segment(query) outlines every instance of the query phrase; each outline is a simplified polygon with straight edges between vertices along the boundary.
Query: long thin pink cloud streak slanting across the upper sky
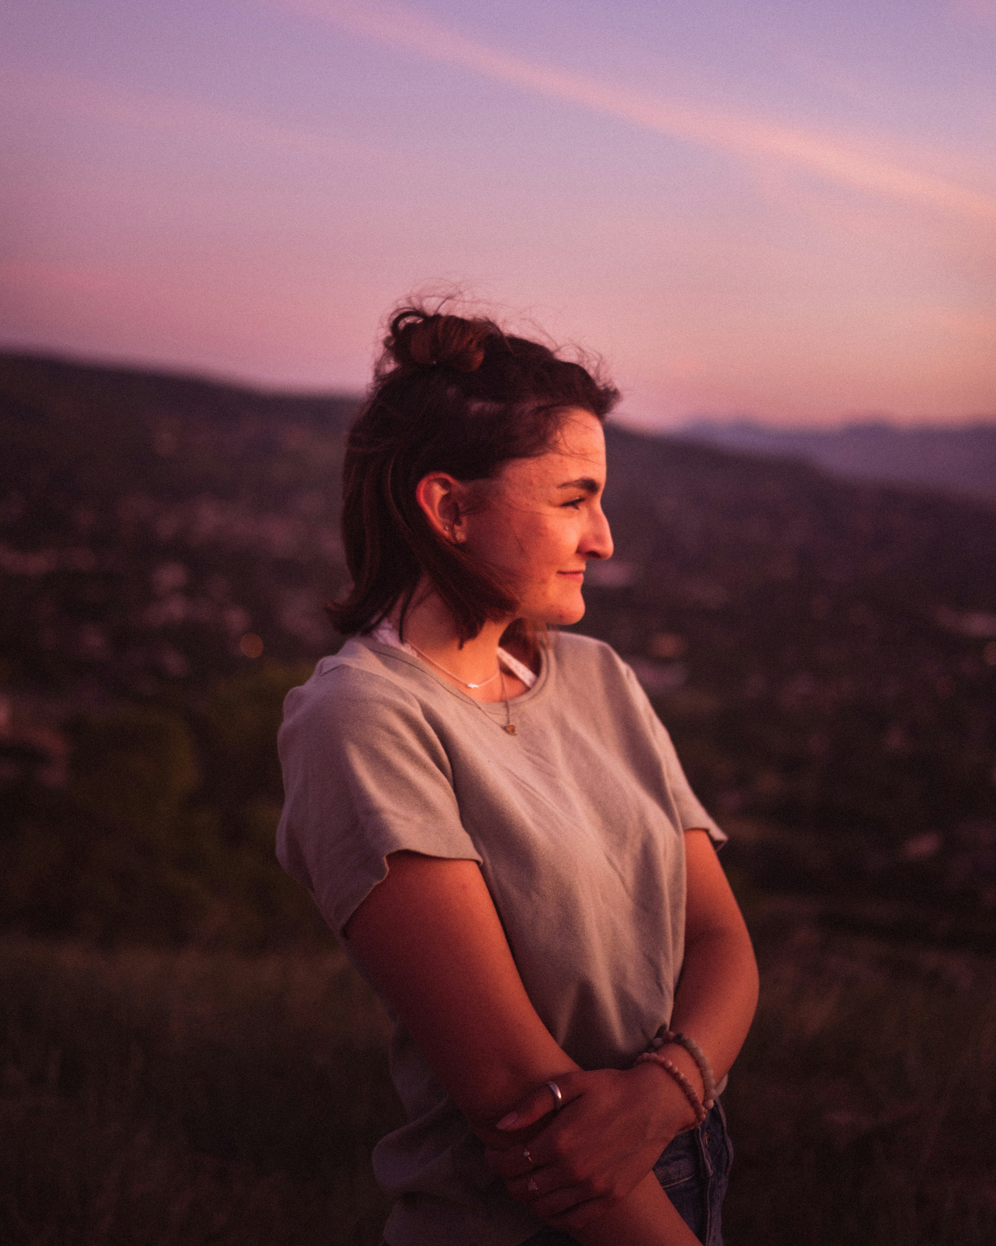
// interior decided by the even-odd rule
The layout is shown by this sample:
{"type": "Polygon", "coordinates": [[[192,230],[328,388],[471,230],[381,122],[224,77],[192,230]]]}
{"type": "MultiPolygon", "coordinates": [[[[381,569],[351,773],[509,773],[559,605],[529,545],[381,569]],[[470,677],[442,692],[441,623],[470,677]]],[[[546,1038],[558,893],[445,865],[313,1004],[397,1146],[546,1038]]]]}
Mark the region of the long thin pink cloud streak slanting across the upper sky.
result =
{"type": "Polygon", "coordinates": [[[996,224],[996,198],[930,169],[909,167],[798,126],[661,98],[512,56],[430,22],[410,9],[355,0],[264,0],[369,39],[458,66],[494,82],[575,103],[642,130],[720,148],[747,159],[776,159],[829,182],[996,224]]]}

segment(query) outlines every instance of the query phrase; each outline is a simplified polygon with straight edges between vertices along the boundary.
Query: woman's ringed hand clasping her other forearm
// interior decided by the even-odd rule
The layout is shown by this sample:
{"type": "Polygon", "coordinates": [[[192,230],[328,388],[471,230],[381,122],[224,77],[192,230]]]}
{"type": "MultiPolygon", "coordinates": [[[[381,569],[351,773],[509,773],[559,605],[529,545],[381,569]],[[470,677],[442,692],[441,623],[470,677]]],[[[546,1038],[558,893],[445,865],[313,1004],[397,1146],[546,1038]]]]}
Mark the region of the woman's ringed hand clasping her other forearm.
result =
{"type": "Polygon", "coordinates": [[[484,1158],[509,1194],[540,1219],[583,1229],[624,1199],[695,1116],[679,1087],[652,1064],[565,1073],[557,1084],[564,1108],[552,1113],[545,1085],[530,1091],[499,1121],[508,1149],[486,1150],[484,1158]]]}

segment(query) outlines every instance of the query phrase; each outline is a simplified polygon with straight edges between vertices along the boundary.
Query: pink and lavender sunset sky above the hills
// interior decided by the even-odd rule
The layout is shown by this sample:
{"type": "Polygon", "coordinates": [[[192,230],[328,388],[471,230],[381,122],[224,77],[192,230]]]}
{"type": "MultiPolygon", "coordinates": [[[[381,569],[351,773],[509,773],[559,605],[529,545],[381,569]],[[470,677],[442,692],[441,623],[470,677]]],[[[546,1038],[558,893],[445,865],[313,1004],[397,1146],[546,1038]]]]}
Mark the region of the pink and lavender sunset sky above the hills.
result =
{"type": "Polygon", "coordinates": [[[459,289],[647,425],[996,416],[996,0],[0,0],[0,343],[360,390],[459,289]]]}

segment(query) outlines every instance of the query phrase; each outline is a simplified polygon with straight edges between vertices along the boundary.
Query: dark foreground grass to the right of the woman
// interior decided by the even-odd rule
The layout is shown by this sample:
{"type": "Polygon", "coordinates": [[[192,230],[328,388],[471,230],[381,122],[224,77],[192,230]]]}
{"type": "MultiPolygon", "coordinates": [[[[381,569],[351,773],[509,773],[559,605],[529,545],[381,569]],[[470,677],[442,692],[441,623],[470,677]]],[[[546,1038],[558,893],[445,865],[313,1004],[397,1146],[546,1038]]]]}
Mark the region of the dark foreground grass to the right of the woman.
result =
{"type": "Polygon", "coordinates": [[[726,1094],[732,1246],[996,1240],[996,961],[758,931],[762,998],[726,1094]]]}

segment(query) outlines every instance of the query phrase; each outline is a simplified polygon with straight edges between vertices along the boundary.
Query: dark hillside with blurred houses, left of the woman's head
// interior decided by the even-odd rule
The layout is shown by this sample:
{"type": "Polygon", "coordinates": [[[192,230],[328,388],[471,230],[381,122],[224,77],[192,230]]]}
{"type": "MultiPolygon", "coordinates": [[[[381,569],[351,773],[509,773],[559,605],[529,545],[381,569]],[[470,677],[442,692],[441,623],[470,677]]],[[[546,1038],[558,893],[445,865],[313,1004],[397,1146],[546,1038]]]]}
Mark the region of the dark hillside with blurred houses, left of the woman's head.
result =
{"type": "Polygon", "coordinates": [[[355,397],[0,355],[0,637],[10,678],[115,694],[204,680],[239,638],[330,643],[355,397]]]}

